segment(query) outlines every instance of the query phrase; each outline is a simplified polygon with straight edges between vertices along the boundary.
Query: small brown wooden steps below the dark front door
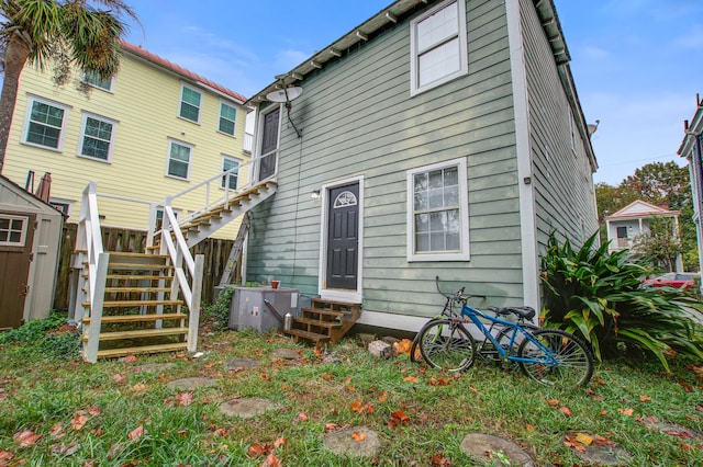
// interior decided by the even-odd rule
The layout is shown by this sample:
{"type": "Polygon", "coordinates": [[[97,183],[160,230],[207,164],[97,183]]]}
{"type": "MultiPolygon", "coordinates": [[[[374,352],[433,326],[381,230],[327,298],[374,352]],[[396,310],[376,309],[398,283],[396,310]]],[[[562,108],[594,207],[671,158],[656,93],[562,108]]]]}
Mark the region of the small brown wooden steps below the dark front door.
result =
{"type": "Polygon", "coordinates": [[[295,338],[295,342],[314,343],[315,346],[334,344],[352,329],[361,316],[361,305],[313,298],[310,308],[302,308],[293,318],[291,329],[282,332],[295,338]]]}

